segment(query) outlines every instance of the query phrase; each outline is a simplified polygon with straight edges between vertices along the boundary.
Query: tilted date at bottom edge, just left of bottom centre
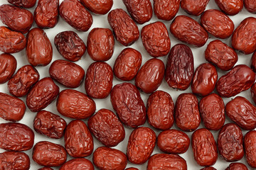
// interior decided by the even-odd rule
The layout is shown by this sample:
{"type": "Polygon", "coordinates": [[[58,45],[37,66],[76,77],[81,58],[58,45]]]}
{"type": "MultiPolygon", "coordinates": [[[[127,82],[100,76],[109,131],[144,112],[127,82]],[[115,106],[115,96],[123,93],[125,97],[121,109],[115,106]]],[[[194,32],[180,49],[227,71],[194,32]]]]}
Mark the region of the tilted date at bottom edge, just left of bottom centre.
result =
{"type": "Polygon", "coordinates": [[[101,170],[123,170],[127,166],[127,156],[109,147],[98,147],[93,153],[92,161],[101,170]]]}

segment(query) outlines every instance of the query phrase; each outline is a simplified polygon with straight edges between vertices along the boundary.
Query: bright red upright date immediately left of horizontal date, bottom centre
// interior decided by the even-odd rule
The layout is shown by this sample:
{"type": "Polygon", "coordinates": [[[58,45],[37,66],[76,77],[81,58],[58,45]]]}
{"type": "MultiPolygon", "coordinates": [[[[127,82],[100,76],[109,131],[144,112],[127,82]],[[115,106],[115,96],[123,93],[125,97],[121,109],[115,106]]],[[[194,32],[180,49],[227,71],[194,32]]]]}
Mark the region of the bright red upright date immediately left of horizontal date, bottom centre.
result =
{"type": "Polygon", "coordinates": [[[132,131],[127,145],[127,157],[132,164],[144,164],[156,145],[156,133],[140,127],[132,131]]]}

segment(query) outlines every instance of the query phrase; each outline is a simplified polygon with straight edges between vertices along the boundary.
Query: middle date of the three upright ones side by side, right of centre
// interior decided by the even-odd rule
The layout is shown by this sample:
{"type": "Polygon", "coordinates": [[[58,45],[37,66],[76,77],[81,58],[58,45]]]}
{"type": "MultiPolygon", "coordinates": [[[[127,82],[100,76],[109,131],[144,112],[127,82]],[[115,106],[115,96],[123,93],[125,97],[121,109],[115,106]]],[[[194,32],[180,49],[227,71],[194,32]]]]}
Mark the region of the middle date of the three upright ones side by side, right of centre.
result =
{"type": "Polygon", "coordinates": [[[178,128],[191,132],[201,123],[198,99],[193,94],[181,94],[175,103],[175,121],[178,128]]]}

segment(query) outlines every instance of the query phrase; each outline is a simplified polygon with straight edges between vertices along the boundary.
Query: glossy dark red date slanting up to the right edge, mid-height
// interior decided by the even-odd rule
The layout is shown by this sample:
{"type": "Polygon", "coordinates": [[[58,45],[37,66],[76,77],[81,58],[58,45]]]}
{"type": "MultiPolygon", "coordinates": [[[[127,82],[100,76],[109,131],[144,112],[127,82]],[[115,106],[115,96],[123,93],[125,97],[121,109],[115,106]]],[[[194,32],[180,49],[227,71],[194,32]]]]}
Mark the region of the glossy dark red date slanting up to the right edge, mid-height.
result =
{"type": "Polygon", "coordinates": [[[228,98],[250,89],[254,82],[255,72],[247,65],[240,64],[218,79],[216,90],[221,97],[228,98]]]}

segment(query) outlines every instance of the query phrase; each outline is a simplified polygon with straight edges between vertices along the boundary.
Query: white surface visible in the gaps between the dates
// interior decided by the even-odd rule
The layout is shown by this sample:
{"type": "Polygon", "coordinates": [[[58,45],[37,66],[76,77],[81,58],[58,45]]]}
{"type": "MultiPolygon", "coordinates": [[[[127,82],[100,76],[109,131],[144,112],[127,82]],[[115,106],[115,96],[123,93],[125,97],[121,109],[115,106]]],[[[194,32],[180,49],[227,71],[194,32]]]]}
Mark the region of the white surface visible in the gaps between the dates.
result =
{"type": "MultiPolygon", "coordinates": [[[[60,0],[61,2],[62,0],[60,0]]],[[[151,0],[151,3],[153,5],[153,1],[151,0]]],[[[0,1],[0,5],[2,4],[9,4],[7,2],[7,0],[1,0],[0,1]]],[[[31,11],[33,13],[34,9],[36,8],[36,6],[34,6],[33,8],[29,8],[28,10],[31,11]]],[[[124,4],[122,3],[121,0],[114,0],[114,5],[112,6],[112,9],[114,8],[123,8],[125,11],[127,11],[127,9],[125,8],[124,4]]],[[[206,7],[206,9],[210,9],[210,8],[215,8],[218,9],[218,6],[215,4],[214,0],[210,0],[208,6],[206,7]]],[[[183,9],[179,9],[177,16],[178,15],[186,15],[186,16],[190,16],[187,13],[185,13],[183,11],[183,9]]],[[[235,23],[235,28],[239,25],[239,23],[244,19],[247,18],[248,16],[255,16],[255,14],[249,13],[246,11],[245,8],[242,9],[242,11],[240,11],[240,13],[238,13],[235,16],[230,16],[230,18],[233,20],[233,22],[235,23]]],[[[92,27],[90,28],[90,30],[92,30],[92,28],[110,28],[109,23],[107,22],[107,14],[106,15],[95,15],[94,13],[92,13],[92,17],[93,17],[93,24],[92,27]]],[[[200,16],[190,16],[191,18],[195,19],[196,21],[199,21],[200,16]]],[[[142,29],[143,26],[149,24],[149,23],[154,23],[155,21],[159,21],[156,16],[154,16],[151,18],[151,21],[144,23],[143,25],[139,25],[139,30],[142,29]]],[[[171,24],[171,21],[162,21],[165,23],[168,31],[169,31],[169,27],[171,24]]],[[[4,26],[3,23],[0,22],[0,26],[4,26]]],[[[33,23],[33,28],[37,27],[36,23],[33,23]]],[[[111,29],[111,28],[110,28],[111,29]]],[[[48,35],[48,38],[50,39],[50,42],[53,45],[53,60],[64,60],[64,58],[59,54],[58,50],[56,50],[55,45],[54,45],[54,37],[55,35],[57,35],[58,33],[64,31],[64,30],[73,30],[75,31],[75,33],[78,33],[78,35],[80,36],[80,38],[85,42],[87,41],[87,35],[88,33],[90,33],[90,30],[88,30],[87,32],[79,32],[78,30],[75,30],[74,28],[72,28],[71,26],[68,25],[68,23],[65,23],[65,21],[63,21],[62,18],[59,18],[58,24],[57,26],[55,26],[54,28],[50,28],[50,29],[46,29],[46,34],[48,35]]],[[[182,43],[178,40],[176,40],[176,38],[174,38],[173,35],[171,35],[170,31],[169,31],[169,37],[171,38],[171,47],[173,47],[174,45],[176,45],[177,43],[182,43]]],[[[188,45],[189,47],[191,47],[191,50],[193,51],[193,57],[194,57],[194,63],[195,63],[195,69],[196,67],[198,67],[199,64],[206,62],[205,58],[204,58],[204,50],[206,50],[206,46],[208,45],[208,43],[212,40],[215,40],[215,38],[210,35],[208,41],[206,42],[206,45],[204,45],[203,47],[192,47],[190,45],[188,45]]],[[[223,42],[227,43],[228,45],[231,45],[231,38],[222,40],[223,42]]],[[[135,42],[133,45],[131,45],[130,47],[133,47],[136,50],[139,50],[139,52],[142,53],[142,64],[144,64],[144,62],[146,62],[147,60],[151,59],[152,57],[150,57],[146,50],[144,49],[143,45],[142,45],[142,40],[141,38],[139,38],[139,40],[137,40],[137,42],[135,42]]],[[[114,61],[117,58],[117,56],[119,55],[119,53],[124,49],[125,47],[123,45],[121,45],[119,42],[117,42],[117,40],[115,40],[115,47],[114,47],[114,54],[112,55],[112,58],[107,61],[108,64],[110,64],[111,67],[113,67],[114,65],[114,61]]],[[[248,66],[250,66],[250,58],[252,55],[243,55],[241,53],[238,53],[238,63],[237,64],[247,64],[248,66]]],[[[18,52],[16,54],[14,54],[14,57],[16,57],[16,60],[18,62],[18,66],[16,71],[22,67],[25,64],[29,64],[28,60],[26,59],[26,52],[25,50],[22,50],[21,52],[18,52]]],[[[164,63],[166,64],[166,57],[159,57],[159,59],[163,60],[164,63]]],[[[52,63],[51,62],[51,63],[52,63]]],[[[76,64],[80,64],[80,66],[85,69],[85,72],[87,70],[87,67],[89,67],[89,65],[94,62],[89,55],[87,55],[87,53],[85,53],[85,55],[82,57],[81,60],[79,60],[78,62],[75,62],[76,64]]],[[[50,64],[51,64],[50,63],[50,64]]],[[[36,67],[36,69],[38,69],[38,72],[40,73],[40,78],[42,79],[43,77],[49,77],[49,73],[48,73],[48,69],[50,67],[50,64],[48,64],[46,67],[36,67]]],[[[218,76],[222,76],[223,74],[225,74],[225,72],[221,72],[220,69],[218,69],[218,76]]],[[[113,86],[115,84],[120,84],[122,83],[122,81],[117,80],[116,78],[114,78],[114,82],[113,82],[113,86]]],[[[132,84],[134,84],[134,81],[131,81],[132,84]]],[[[58,84],[58,83],[56,83],[58,84]]],[[[66,89],[64,86],[58,84],[58,86],[60,87],[60,91],[62,91],[63,89],[66,89]]],[[[84,81],[82,82],[82,85],[79,86],[76,90],[78,91],[82,91],[83,93],[85,93],[85,88],[84,88],[84,81]]],[[[186,93],[186,92],[191,92],[191,87],[189,87],[186,91],[176,91],[175,89],[171,89],[168,84],[166,84],[166,81],[163,81],[161,86],[159,87],[159,90],[164,90],[167,91],[169,94],[171,94],[171,97],[173,98],[174,102],[176,101],[176,98],[178,97],[179,94],[182,93],[186,93]]],[[[7,83],[6,84],[0,84],[0,91],[4,92],[6,94],[9,94],[9,91],[7,89],[7,83]]],[[[146,104],[146,100],[149,96],[149,94],[142,94],[142,99],[144,100],[144,103],[146,104]]],[[[252,97],[250,95],[250,90],[244,91],[241,94],[238,94],[238,96],[245,96],[249,101],[252,101],[252,97]]],[[[26,97],[21,98],[24,102],[26,101],[26,97]]],[[[200,98],[198,98],[198,100],[200,101],[200,98]]],[[[231,98],[224,98],[225,103],[227,103],[228,101],[230,101],[231,98]]],[[[95,99],[96,102],[96,107],[97,107],[97,111],[100,110],[100,108],[107,108],[113,111],[112,105],[110,103],[110,96],[108,96],[105,99],[95,99]]],[[[53,103],[51,103],[45,110],[46,111],[51,111],[52,113],[58,114],[58,111],[55,107],[56,105],[56,100],[53,101],[53,103]]],[[[23,117],[23,119],[20,121],[20,123],[26,124],[28,125],[32,130],[33,130],[33,118],[36,115],[36,113],[33,113],[31,111],[28,110],[28,108],[26,109],[26,113],[23,117]]],[[[63,117],[61,115],[61,117],[63,117]]],[[[64,118],[67,123],[69,123],[71,121],[70,118],[64,118]]],[[[0,118],[0,123],[6,123],[6,120],[3,120],[0,118]]],[[[87,120],[85,120],[85,122],[87,123],[87,120]]],[[[227,118],[225,123],[230,123],[230,120],[227,118]]],[[[145,123],[143,126],[148,126],[148,123],[145,123]]],[[[203,123],[201,123],[199,128],[203,128],[203,123]]],[[[152,127],[150,127],[152,128],[152,127]]],[[[172,128],[177,129],[176,125],[174,125],[172,128]]],[[[152,128],[154,129],[154,128],[152,128]]],[[[119,143],[119,145],[117,145],[117,147],[114,147],[116,149],[121,150],[122,152],[126,153],[126,148],[127,148],[127,140],[129,138],[130,133],[132,132],[133,129],[131,128],[127,128],[125,127],[126,130],[126,137],[124,139],[123,142],[119,143]]],[[[156,135],[159,134],[159,130],[155,130],[156,135]]],[[[215,140],[217,140],[218,137],[218,131],[211,131],[215,137],[215,140]]],[[[247,131],[242,130],[243,135],[245,135],[245,133],[247,131]]],[[[189,137],[191,137],[193,132],[186,132],[188,134],[189,137]]],[[[50,139],[48,137],[45,137],[43,135],[39,135],[38,133],[35,132],[35,144],[36,142],[42,141],[42,140],[46,140],[46,141],[50,141],[50,142],[54,142],[60,145],[64,146],[64,139],[61,138],[60,140],[54,140],[54,139],[50,139]]],[[[95,149],[97,149],[97,147],[102,146],[102,144],[100,142],[98,142],[95,138],[94,138],[94,145],[95,145],[95,149]]],[[[3,149],[0,149],[0,152],[4,152],[3,149]]],[[[153,154],[157,154],[157,153],[161,153],[161,151],[158,149],[158,147],[156,146],[154,149],[153,154]]],[[[32,149],[26,151],[26,154],[28,154],[29,157],[32,157],[32,149]]],[[[186,159],[187,165],[188,165],[188,169],[189,170],[193,170],[193,169],[201,169],[201,166],[198,166],[198,164],[196,164],[195,160],[193,159],[193,152],[191,149],[191,145],[188,149],[188,151],[185,154],[181,154],[181,157],[183,157],[184,159],[186,159]]],[[[86,157],[87,159],[90,159],[92,161],[92,155],[90,155],[89,157],[86,157]]],[[[72,159],[70,156],[68,156],[68,160],[72,159]]],[[[245,161],[245,157],[243,157],[242,160],[240,160],[240,162],[246,164],[246,166],[248,167],[248,169],[251,169],[248,164],[245,161]]],[[[142,164],[142,165],[135,165],[135,164],[130,164],[128,162],[127,167],[137,167],[139,169],[146,169],[146,164],[142,164]]],[[[221,169],[225,169],[228,166],[228,162],[225,162],[223,159],[221,159],[220,157],[218,157],[218,161],[215,163],[214,167],[215,169],[221,170],[221,169]]],[[[36,162],[33,162],[33,159],[31,159],[31,169],[39,169],[41,168],[41,166],[39,166],[38,164],[36,164],[36,162]]],[[[58,169],[58,168],[53,168],[53,169],[58,169]]],[[[95,168],[97,169],[97,168],[95,168]]]]}

